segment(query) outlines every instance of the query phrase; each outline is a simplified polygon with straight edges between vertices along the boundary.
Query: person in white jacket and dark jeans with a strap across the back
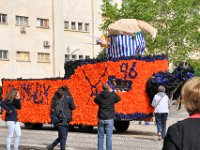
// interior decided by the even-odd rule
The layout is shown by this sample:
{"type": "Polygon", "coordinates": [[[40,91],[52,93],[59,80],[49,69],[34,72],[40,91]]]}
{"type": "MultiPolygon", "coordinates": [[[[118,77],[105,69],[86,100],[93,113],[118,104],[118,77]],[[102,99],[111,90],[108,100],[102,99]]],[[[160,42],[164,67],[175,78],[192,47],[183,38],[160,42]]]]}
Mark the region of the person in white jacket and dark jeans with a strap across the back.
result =
{"type": "Polygon", "coordinates": [[[165,93],[164,86],[158,87],[158,93],[154,96],[151,105],[155,107],[158,140],[163,140],[166,135],[166,122],[169,113],[169,97],[165,93]]]}

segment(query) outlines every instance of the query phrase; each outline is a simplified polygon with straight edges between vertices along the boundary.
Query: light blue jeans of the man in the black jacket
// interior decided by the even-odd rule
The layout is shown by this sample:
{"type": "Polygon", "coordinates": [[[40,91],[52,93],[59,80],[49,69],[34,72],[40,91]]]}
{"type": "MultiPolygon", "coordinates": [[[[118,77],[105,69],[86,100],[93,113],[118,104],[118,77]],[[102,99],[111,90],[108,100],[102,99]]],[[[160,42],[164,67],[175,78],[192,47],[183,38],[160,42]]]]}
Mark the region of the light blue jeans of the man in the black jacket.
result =
{"type": "Polygon", "coordinates": [[[114,120],[99,120],[98,122],[98,150],[103,150],[104,131],[106,132],[106,150],[112,150],[112,134],[114,120]]]}

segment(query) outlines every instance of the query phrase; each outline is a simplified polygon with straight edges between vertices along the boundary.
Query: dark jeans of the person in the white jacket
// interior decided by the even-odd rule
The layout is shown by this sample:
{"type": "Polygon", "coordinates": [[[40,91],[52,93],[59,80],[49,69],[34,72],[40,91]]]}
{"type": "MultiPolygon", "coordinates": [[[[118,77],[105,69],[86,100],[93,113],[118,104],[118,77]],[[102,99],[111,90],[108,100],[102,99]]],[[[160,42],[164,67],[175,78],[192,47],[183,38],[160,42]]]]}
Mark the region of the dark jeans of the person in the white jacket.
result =
{"type": "Polygon", "coordinates": [[[164,139],[166,135],[167,116],[168,116],[168,113],[155,113],[157,132],[161,133],[162,139],[164,139]]]}

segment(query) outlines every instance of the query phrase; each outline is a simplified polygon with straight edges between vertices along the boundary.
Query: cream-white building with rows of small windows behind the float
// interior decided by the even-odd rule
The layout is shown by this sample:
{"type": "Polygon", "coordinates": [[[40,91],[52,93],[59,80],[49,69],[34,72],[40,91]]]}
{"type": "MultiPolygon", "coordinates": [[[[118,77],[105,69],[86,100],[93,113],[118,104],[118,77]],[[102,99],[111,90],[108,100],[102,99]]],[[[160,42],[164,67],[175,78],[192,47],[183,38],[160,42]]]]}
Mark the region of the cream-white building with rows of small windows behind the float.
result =
{"type": "Polygon", "coordinates": [[[0,79],[63,77],[66,60],[95,58],[101,4],[0,0],[0,79]]]}

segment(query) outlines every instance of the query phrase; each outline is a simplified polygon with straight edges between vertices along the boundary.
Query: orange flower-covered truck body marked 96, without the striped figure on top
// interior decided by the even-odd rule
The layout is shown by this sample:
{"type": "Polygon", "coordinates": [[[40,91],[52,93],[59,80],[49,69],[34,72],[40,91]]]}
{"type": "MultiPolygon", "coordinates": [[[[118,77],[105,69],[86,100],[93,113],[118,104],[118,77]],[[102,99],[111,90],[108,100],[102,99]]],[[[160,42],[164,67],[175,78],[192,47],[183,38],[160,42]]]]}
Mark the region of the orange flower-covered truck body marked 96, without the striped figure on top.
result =
{"type": "MultiPolygon", "coordinates": [[[[126,131],[131,120],[151,119],[153,108],[146,92],[147,80],[166,70],[165,55],[69,61],[65,63],[64,78],[3,79],[2,97],[5,98],[12,87],[18,88],[22,103],[19,121],[26,128],[41,128],[51,123],[50,106],[55,91],[66,86],[77,106],[70,124],[91,130],[98,120],[98,107],[93,100],[102,90],[102,84],[115,78],[116,93],[121,97],[115,105],[115,128],[126,131]]],[[[5,119],[5,112],[2,118],[5,119]]]]}

